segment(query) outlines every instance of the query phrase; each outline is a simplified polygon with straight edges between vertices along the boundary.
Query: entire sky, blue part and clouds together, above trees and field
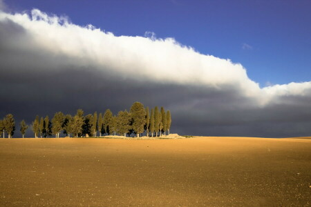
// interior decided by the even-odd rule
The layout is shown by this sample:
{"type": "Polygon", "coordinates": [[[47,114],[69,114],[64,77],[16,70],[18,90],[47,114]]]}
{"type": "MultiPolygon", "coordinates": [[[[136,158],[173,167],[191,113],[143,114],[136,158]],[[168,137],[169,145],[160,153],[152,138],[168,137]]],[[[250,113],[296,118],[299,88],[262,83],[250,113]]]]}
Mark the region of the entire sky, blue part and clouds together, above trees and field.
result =
{"type": "Polygon", "coordinates": [[[311,134],[311,1],[2,1],[0,116],[172,112],[182,135],[311,134]]]}

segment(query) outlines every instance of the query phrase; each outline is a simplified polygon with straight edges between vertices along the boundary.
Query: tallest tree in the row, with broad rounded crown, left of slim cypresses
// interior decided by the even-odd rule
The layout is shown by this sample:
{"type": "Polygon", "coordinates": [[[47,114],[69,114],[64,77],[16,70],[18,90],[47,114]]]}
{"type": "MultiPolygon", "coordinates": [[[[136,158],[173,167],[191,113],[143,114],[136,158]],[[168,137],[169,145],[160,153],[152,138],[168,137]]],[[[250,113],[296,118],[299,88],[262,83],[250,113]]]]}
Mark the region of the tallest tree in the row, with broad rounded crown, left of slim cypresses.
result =
{"type": "Polygon", "coordinates": [[[144,124],[146,124],[144,105],[140,102],[135,102],[131,106],[130,112],[133,119],[133,130],[137,134],[137,137],[140,137],[140,133],[144,132],[144,124]]]}

